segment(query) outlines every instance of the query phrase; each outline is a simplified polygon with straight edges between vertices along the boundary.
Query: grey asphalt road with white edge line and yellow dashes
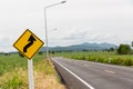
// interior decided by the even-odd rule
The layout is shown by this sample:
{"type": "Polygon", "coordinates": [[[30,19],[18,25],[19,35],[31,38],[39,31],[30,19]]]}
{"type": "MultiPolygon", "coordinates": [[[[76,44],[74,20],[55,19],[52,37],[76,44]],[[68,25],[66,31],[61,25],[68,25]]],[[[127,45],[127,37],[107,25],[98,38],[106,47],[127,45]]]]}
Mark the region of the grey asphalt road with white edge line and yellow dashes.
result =
{"type": "Polygon", "coordinates": [[[133,68],[51,58],[69,89],[133,89],[133,68]]]}

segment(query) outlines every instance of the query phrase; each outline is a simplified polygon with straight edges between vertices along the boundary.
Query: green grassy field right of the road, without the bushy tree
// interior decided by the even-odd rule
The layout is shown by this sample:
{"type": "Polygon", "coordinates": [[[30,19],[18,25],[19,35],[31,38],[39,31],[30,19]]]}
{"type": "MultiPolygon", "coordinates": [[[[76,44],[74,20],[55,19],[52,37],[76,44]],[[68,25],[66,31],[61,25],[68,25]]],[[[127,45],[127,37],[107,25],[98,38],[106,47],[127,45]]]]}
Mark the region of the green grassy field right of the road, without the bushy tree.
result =
{"type": "Polygon", "coordinates": [[[116,52],[76,51],[76,52],[57,52],[55,56],[111,65],[133,66],[133,55],[116,55],[116,52]]]}

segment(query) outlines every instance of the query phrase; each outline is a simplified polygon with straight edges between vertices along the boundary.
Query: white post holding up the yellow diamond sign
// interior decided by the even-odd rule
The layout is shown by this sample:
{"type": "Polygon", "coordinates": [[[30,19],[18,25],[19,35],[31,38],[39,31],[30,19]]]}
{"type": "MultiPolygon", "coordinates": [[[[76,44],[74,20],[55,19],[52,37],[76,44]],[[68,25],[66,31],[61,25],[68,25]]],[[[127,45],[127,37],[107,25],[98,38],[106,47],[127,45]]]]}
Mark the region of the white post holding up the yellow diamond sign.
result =
{"type": "Polygon", "coordinates": [[[32,59],[28,60],[28,73],[29,73],[29,89],[34,89],[32,59]]]}

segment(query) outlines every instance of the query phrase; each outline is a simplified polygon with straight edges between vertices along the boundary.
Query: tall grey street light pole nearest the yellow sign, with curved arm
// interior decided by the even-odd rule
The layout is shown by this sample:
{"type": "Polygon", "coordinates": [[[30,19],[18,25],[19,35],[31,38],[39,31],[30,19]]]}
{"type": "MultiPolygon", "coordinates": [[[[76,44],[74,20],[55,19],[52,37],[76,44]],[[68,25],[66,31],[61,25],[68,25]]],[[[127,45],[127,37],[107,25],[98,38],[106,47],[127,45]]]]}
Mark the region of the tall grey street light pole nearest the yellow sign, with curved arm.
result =
{"type": "Polygon", "coordinates": [[[54,7],[54,6],[58,6],[58,4],[62,4],[62,3],[65,3],[66,1],[61,1],[59,3],[54,3],[54,4],[50,4],[48,7],[44,8],[44,26],[45,26],[45,42],[47,42],[47,59],[49,60],[49,43],[48,43],[48,27],[47,27],[47,9],[50,8],[50,7],[54,7]]]}

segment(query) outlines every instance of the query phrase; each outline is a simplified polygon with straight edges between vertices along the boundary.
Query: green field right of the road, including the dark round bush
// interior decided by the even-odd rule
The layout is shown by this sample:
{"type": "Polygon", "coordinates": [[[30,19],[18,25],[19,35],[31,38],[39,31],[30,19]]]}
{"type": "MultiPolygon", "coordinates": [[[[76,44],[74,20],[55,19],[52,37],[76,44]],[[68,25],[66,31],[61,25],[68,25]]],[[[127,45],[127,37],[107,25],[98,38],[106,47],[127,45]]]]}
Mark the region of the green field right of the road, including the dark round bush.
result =
{"type": "Polygon", "coordinates": [[[93,62],[103,62],[120,66],[133,66],[133,49],[130,47],[130,44],[120,44],[117,48],[110,48],[105,50],[95,51],[83,50],[65,52],[59,51],[51,52],[51,55],[93,62]]]}

